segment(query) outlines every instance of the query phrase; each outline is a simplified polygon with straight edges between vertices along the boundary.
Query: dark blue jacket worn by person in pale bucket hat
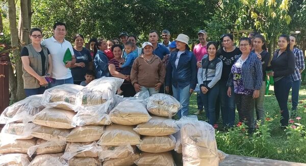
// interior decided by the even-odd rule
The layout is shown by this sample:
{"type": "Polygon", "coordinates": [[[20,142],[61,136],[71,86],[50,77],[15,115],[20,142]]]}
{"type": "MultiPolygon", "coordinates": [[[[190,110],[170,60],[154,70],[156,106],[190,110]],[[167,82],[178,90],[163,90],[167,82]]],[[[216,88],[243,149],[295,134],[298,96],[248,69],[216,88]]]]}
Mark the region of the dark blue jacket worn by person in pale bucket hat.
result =
{"type": "Polygon", "coordinates": [[[186,50],[181,54],[179,64],[175,67],[177,51],[170,54],[167,65],[166,86],[172,85],[177,88],[184,88],[190,85],[190,89],[195,89],[197,82],[196,58],[193,52],[186,50]]]}

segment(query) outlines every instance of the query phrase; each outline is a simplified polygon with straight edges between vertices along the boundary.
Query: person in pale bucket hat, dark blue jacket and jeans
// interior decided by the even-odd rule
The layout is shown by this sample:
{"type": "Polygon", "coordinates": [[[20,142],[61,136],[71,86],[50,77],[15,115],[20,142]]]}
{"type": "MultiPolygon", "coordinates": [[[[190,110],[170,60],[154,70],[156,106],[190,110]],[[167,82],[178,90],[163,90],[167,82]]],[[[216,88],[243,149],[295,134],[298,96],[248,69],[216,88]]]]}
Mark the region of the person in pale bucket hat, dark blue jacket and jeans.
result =
{"type": "Polygon", "coordinates": [[[175,39],[177,51],[172,52],[167,65],[166,91],[172,86],[173,96],[182,104],[177,115],[188,115],[189,98],[197,82],[196,58],[188,50],[189,37],[180,34],[175,39]]]}

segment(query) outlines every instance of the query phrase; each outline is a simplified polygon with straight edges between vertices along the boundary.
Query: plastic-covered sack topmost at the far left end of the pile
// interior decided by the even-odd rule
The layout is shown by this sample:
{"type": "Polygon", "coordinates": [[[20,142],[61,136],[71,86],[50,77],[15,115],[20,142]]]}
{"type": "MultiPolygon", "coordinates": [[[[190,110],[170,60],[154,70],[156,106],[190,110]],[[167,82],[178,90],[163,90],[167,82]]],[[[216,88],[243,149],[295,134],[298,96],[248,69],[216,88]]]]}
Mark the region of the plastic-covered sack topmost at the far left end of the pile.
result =
{"type": "Polygon", "coordinates": [[[33,95],[8,106],[0,116],[0,123],[31,121],[44,108],[40,103],[41,99],[42,95],[33,95]]]}

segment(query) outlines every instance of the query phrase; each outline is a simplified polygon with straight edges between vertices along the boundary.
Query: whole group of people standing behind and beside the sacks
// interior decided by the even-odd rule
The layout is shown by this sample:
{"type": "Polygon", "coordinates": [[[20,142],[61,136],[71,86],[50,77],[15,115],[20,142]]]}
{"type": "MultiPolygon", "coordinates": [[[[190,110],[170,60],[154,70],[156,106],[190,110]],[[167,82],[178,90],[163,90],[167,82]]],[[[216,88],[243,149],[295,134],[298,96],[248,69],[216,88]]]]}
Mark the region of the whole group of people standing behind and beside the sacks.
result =
{"type": "Polygon", "coordinates": [[[296,37],[281,35],[278,47],[270,62],[266,41],[260,34],[250,33],[235,46],[231,34],[221,36],[217,42],[208,42],[207,33],[197,33],[199,44],[191,51],[189,37],[179,34],[170,41],[170,32],[150,31],[148,41],[139,48],[137,37],[126,32],[119,39],[90,39],[90,49],[84,47],[84,37],[73,37],[74,46],[65,40],[66,25],[57,22],[54,36],[42,41],[42,32],[33,28],[32,43],[21,50],[24,90],[27,96],[42,94],[46,88],[61,84],[86,86],[95,78],[118,77],[124,82],[117,94],[134,96],[147,90],[150,95],[173,95],[182,108],[178,116],[188,115],[190,95],[197,90],[198,112],[205,110],[208,122],[214,125],[221,111],[224,126],[235,123],[237,107],[239,121],[245,122],[249,131],[257,120],[265,120],[263,107],[266,79],[274,78],[274,92],[281,108],[282,126],[287,126],[289,110],[287,101],[292,88],[292,115],[295,116],[300,73],[304,69],[301,50],[294,47],[296,37]],[[120,44],[122,43],[122,45],[120,44]],[[64,61],[66,54],[71,59],[64,61]],[[268,64],[271,63],[270,66],[268,64]],[[255,110],[255,111],[254,111],[255,110]]]}

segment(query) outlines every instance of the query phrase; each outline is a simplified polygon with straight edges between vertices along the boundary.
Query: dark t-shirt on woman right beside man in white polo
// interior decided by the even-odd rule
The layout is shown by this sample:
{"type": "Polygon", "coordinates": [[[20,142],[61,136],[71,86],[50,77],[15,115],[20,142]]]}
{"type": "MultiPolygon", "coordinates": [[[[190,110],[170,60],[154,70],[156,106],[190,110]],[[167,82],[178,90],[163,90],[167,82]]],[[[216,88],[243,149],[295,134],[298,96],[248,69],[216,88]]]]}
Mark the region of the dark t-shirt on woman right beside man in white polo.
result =
{"type": "Polygon", "coordinates": [[[71,74],[73,77],[73,81],[83,81],[85,80],[85,74],[89,67],[89,62],[92,61],[90,56],[90,51],[87,48],[84,48],[81,51],[78,51],[73,48],[74,57],[77,59],[75,63],[84,62],[85,67],[74,67],[71,68],[71,74]]]}

